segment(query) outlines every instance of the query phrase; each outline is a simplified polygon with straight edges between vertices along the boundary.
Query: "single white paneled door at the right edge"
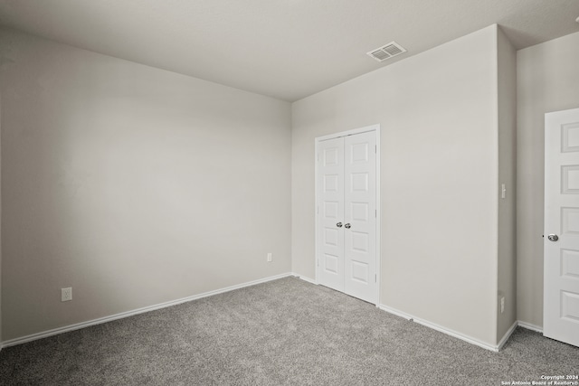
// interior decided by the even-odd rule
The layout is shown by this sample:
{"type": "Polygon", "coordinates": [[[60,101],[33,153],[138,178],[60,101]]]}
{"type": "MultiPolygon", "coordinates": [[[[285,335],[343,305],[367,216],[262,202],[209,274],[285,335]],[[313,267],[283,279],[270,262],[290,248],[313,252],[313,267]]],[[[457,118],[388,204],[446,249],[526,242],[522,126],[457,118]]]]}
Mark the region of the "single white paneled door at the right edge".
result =
{"type": "Polygon", "coordinates": [[[579,346],[579,108],[545,116],[543,334],[579,346]]]}

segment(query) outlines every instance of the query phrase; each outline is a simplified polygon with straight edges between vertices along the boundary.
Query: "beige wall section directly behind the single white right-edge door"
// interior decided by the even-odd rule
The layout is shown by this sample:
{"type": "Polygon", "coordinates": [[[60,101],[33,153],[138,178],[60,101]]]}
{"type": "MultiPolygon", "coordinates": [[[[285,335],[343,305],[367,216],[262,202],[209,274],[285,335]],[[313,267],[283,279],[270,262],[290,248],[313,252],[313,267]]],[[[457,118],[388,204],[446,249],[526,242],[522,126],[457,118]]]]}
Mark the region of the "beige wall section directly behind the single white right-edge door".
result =
{"type": "Polygon", "coordinates": [[[545,113],[579,108],[579,33],[517,52],[517,317],[543,326],[545,113]]]}

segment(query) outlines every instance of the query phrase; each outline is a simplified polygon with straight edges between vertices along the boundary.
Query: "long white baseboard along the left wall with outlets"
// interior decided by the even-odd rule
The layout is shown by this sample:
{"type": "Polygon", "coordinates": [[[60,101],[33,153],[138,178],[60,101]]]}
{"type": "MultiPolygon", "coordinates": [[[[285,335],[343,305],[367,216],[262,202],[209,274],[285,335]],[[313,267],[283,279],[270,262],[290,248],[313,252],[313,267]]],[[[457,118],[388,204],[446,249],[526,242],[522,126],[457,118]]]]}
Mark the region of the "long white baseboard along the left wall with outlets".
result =
{"type": "Polygon", "coordinates": [[[266,283],[266,282],[271,281],[271,280],[277,280],[279,278],[287,278],[289,276],[292,276],[292,273],[290,273],[290,272],[282,273],[280,275],[271,276],[269,278],[260,278],[257,280],[248,281],[248,282],[238,284],[235,286],[231,286],[231,287],[224,287],[224,288],[220,288],[220,289],[215,289],[214,291],[204,292],[203,294],[194,295],[192,297],[182,297],[180,299],[171,300],[171,301],[168,301],[165,303],[160,303],[160,304],[157,304],[154,306],[146,306],[146,307],[134,309],[134,310],[127,311],[127,312],[122,312],[122,313],[115,314],[115,315],[100,317],[98,319],[89,320],[87,322],[81,322],[81,323],[77,323],[74,325],[65,325],[63,327],[54,328],[52,330],[43,331],[41,333],[30,334],[30,335],[22,336],[20,338],[10,339],[10,340],[7,340],[5,342],[0,343],[0,350],[2,350],[2,348],[4,348],[4,347],[14,346],[17,344],[25,344],[27,342],[32,342],[32,341],[35,341],[38,339],[47,338],[47,337],[52,336],[52,335],[64,334],[64,333],[68,333],[68,332],[71,332],[74,330],[80,330],[81,328],[90,327],[91,325],[100,325],[103,323],[112,322],[113,320],[122,319],[122,318],[125,318],[128,316],[144,314],[146,312],[155,311],[157,309],[166,308],[166,307],[170,307],[170,306],[176,306],[176,305],[180,305],[182,303],[191,302],[193,300],[201,299],[203,297],[211,297],[214,295],[223,294],[224,292],[233,291],[235,289],[240,289],[243,287],[251,287],[251,286],[255,286],[257,284],[266,283]]]}

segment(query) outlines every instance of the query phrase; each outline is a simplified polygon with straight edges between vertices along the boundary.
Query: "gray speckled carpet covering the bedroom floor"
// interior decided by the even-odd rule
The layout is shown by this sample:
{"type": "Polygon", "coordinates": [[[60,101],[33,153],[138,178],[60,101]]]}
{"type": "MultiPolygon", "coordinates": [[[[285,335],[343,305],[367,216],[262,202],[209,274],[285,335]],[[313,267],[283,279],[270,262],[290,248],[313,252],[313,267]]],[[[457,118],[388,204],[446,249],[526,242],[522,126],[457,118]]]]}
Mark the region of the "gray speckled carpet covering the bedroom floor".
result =
{"type": "Polygon", "coordinates": [[[517,328],[500,353],[298,278],[0,352],[0,384],[500,385],[579,374],[579,348],[517,328]]]}

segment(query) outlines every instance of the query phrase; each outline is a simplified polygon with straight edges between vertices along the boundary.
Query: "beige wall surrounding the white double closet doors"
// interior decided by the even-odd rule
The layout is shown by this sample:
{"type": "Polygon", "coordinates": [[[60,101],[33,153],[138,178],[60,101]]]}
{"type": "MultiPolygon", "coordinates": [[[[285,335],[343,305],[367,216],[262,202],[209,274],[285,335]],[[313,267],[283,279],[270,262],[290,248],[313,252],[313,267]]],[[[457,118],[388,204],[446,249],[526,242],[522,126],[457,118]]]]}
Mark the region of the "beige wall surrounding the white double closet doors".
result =
{"type": "Polygon", "coordinates": [[[315,276],[314,138],[380,124],[380,302],[497,343],[497,26],[292,106],[292,263],[315,276]]]}

